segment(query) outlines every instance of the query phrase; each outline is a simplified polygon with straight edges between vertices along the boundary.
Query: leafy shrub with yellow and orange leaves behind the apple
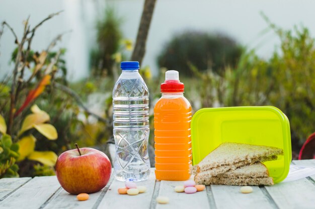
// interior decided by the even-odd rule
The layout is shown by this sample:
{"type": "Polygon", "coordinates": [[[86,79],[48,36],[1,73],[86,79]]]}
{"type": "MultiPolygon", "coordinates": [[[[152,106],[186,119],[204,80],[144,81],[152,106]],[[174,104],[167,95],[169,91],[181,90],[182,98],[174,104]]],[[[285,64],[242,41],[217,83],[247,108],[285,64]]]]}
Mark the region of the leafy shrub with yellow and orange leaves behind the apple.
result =
{"type": "MultiPolygon", "coordinates": [[[[69,87],[65,49],[53,50],[63,34],[42,51],[31,46],[37,28],[58,14],[34,28],[24,21],[22,37],[11,30],[17,47],[12,53],[13,72],[0,81],[0,178],[53,174],[58,154],[71,149],[74,142],[86,144],[87,135],[78,133],[84,132],[86,123],[78,116],[92,113],[69,87]]],[[[6,22],[3,26],[11,28],[6,22]]]]}

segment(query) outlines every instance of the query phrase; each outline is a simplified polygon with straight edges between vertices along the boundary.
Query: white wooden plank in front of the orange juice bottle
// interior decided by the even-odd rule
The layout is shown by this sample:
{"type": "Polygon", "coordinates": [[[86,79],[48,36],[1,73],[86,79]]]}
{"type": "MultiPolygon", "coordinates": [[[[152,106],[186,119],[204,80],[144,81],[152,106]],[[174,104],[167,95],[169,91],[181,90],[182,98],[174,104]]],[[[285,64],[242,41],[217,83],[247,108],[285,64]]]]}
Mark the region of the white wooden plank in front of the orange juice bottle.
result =
{"type": "Polygon", "coordinates": [[[161,181],[159,196],[170,198],[168,204],[156,204],[156,208],[210,208],[206,190],[193,194],[175,192],[175,186],[184,185],[184,181],[161,181]]]}

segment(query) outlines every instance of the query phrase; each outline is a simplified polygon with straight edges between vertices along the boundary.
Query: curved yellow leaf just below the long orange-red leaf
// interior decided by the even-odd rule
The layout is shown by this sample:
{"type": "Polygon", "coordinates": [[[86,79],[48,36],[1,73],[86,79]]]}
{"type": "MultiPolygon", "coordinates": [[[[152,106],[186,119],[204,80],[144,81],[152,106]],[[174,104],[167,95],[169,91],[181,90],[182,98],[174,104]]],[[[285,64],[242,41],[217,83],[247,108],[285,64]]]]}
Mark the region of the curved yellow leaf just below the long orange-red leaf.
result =
{"type": "Polygon", "coordinates": [[[23,121],[19,135],[33,128],[34,125],[45,123],[46,121],[49,121],[49,119],[49,115],[44,111],[42,111],[41,113],[33,113],[28,115],[23,121]]]}

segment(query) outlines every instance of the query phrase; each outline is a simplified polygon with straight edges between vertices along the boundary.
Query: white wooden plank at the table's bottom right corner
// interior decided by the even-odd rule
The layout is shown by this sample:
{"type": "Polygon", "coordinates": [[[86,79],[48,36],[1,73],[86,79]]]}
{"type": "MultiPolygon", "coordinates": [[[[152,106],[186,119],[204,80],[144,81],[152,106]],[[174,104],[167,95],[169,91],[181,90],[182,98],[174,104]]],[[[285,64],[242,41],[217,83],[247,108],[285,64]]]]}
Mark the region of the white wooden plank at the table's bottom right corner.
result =
{"type": "Polygon", "coordinates": [[[265,186],[280,208],[312,208],[315,186],[306,178],[265,186]]]}

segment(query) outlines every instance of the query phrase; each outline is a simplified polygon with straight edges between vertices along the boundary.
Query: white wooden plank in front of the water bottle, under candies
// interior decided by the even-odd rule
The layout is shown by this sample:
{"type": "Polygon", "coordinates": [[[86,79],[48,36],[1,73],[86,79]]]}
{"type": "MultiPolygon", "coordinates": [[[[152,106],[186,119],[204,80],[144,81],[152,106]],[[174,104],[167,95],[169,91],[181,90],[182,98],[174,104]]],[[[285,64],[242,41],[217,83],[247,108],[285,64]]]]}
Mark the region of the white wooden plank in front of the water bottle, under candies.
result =
{"type": "Polygon", "coordinates": [[[154,183],[154,169],[151,169],[148,180],[136,183],[138,186],[146,186],[147,191],[136,196],[129,196],[127,194],[118,194],[117,189],[125,187],[125,183],[114,179],[98,208],[149,208],[154,190],[154,183]]]}

